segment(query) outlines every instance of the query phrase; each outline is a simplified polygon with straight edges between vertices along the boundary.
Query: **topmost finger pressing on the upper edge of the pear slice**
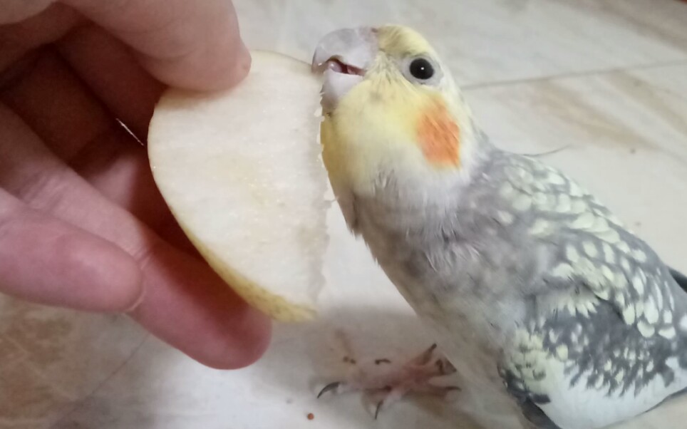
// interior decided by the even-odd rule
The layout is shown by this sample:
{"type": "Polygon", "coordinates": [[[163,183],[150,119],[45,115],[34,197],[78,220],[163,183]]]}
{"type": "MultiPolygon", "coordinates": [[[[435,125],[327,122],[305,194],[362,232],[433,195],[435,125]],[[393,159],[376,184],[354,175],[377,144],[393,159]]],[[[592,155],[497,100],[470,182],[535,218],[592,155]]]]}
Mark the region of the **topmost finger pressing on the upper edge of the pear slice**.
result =
{"type": "Polygon", "coordinates": [[[63,0],[133,48],[163,83],[230,88],[250,68],[230,0],[63,0]]]}

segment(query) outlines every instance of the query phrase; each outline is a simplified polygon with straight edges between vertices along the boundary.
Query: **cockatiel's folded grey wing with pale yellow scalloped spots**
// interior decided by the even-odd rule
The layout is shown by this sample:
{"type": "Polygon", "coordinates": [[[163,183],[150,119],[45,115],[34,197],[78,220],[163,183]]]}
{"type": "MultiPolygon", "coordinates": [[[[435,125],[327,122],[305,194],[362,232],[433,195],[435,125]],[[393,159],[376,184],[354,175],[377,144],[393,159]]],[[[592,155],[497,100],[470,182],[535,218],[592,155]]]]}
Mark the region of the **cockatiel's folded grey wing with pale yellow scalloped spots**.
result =
{"type": "Polygon", "coordinates": [[[601,428],[687,387],[687,278],[562,173],[544,171],[556,185],[532,196],[530,232],[552,264],[500,373],[542,428],[601,428]]]}

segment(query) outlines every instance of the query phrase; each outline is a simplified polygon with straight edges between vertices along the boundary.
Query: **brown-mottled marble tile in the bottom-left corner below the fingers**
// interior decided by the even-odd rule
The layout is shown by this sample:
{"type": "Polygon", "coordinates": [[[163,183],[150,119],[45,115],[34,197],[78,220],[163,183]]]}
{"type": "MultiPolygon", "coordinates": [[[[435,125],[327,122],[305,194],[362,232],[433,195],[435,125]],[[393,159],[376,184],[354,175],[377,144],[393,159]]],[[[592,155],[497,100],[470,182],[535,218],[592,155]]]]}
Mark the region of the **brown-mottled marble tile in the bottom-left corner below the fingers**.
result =
{"type": "Polygon", "coordinates": [[[0,428],[48,427],[117,371],[146,336],[123,316],[0,297],[0,428]]]}

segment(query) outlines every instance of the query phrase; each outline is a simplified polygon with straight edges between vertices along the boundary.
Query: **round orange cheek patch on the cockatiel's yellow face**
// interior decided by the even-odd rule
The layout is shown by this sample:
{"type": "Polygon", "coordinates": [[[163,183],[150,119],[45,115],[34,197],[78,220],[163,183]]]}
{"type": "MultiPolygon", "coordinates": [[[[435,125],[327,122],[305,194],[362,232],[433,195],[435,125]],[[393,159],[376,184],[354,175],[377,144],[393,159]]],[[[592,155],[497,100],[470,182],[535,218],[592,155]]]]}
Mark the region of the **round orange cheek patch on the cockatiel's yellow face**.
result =
{"type": "Polygon", "coordinates": [[[458,166],[460,130],[443,103],[435,103],[420,118],[418,140],[433,164],[458,166]]]}

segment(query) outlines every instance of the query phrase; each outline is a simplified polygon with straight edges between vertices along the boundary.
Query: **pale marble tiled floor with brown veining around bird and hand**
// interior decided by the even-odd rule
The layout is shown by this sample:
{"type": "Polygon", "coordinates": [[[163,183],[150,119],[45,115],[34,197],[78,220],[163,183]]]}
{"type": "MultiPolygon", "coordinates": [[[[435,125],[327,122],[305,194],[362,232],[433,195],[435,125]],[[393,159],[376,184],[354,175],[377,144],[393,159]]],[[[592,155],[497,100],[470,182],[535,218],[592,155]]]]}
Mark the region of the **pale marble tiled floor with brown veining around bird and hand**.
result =
{"type": "MultiPolygon", "coordinates": [[[[498,145],[522,153],[564,147],[547,160],[596,192],[666,262],[687,270],[686,3],[236,4],[252,48],[306,61],[331,29],[415,26],[450,58],[498,145]]],[[[324,320],[277,327],[267,356],[242,371],[203,368],[123,317],[0,299],[0,428],[470,428],[453,403],[411,400],[375,422],[357,397],[314,400],[314,383],[345,370],[343,355],[394,356],[428,343],[338,213],[331,219],[324,320]]],[[[621,428],[677,428],[686,420],[682,399],[621,428]]]]}

